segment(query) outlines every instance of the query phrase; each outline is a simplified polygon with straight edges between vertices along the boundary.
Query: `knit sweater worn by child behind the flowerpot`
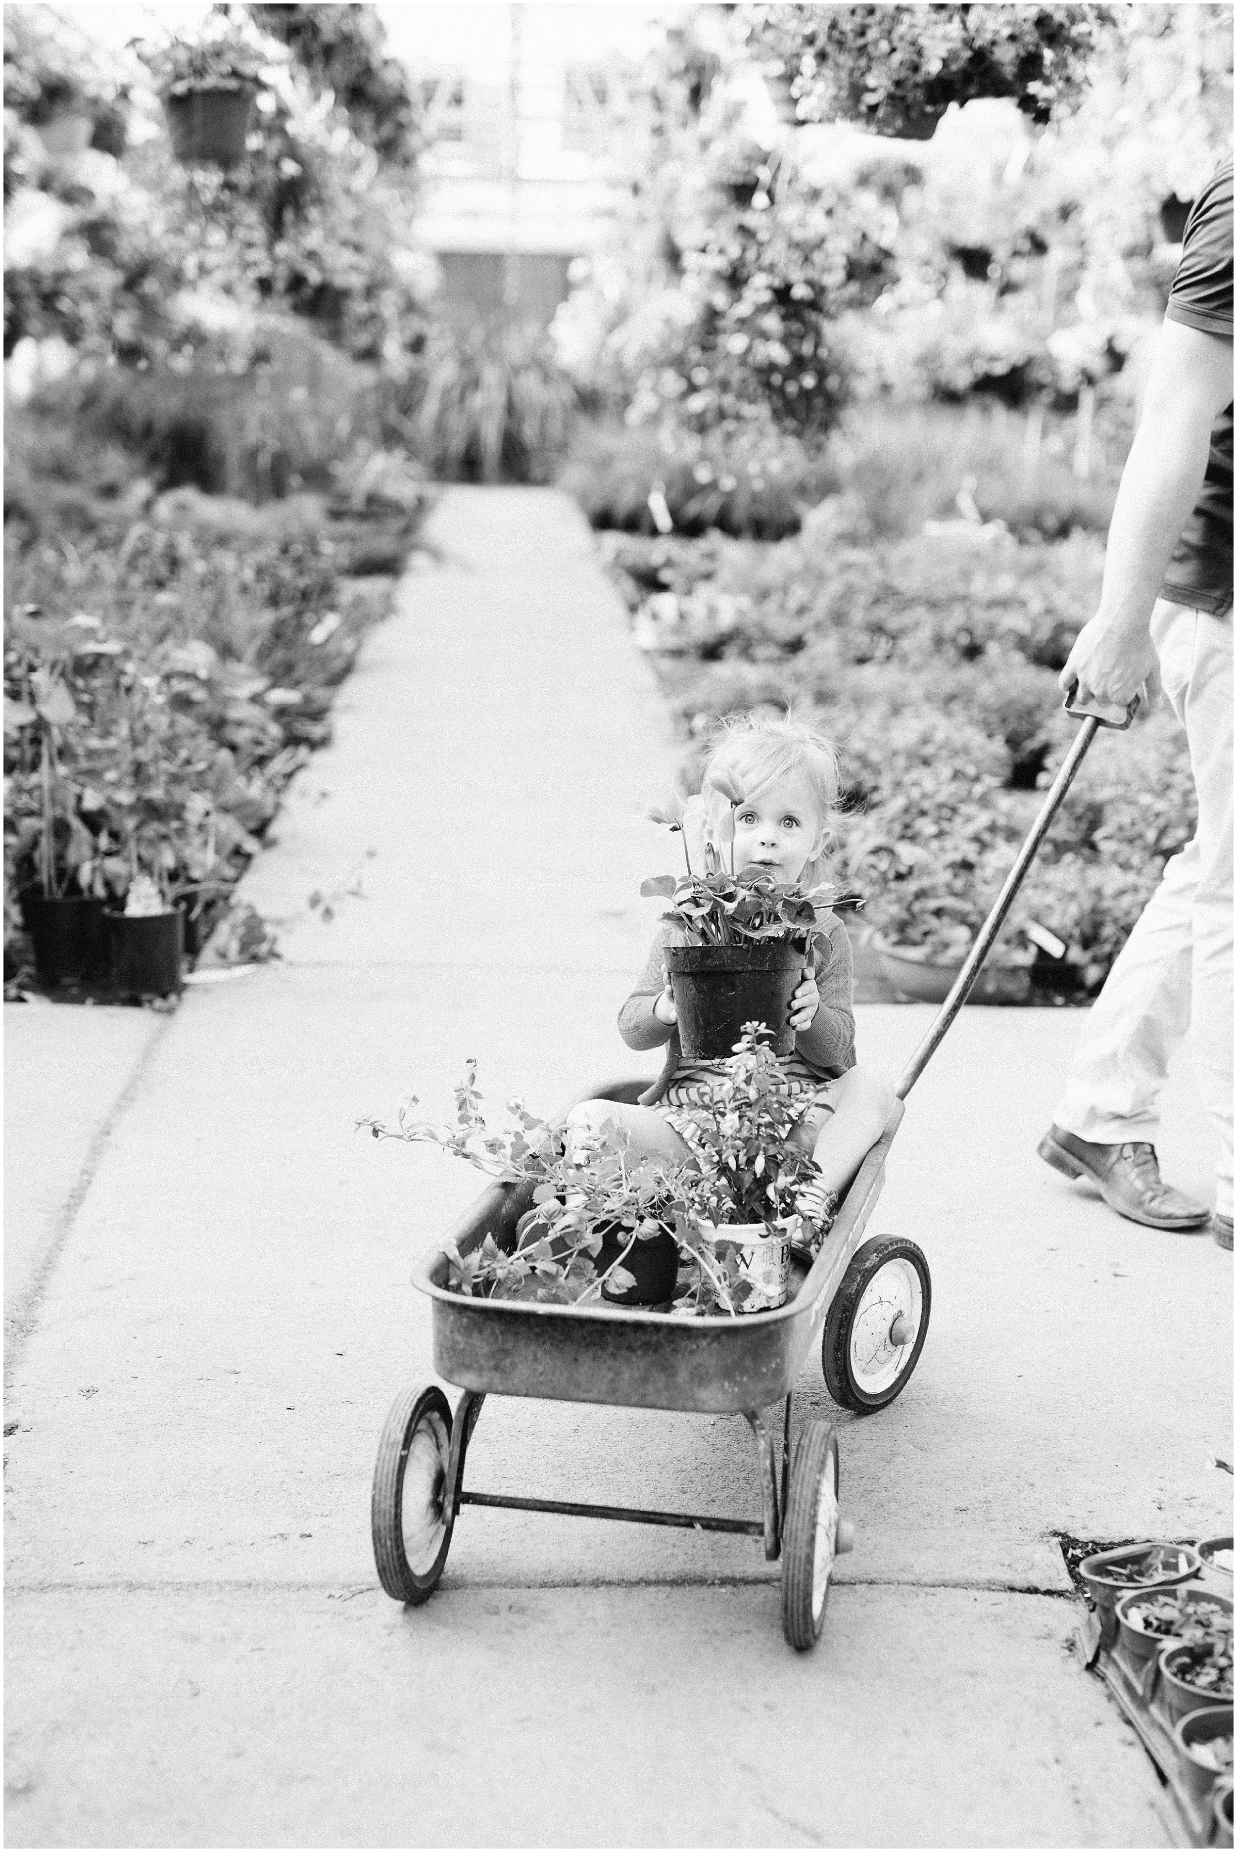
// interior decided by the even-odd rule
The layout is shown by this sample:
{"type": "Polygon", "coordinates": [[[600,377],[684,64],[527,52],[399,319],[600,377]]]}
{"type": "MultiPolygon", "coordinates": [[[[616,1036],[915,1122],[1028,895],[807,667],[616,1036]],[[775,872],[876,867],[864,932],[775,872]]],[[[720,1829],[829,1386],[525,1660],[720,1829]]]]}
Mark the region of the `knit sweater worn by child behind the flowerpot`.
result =
{"type": "MultiPolygon", "coordinates": [[[[820,915],[822,933],[813,939],[813,965],[820,1007],[811,1026],[798,1030],[794,1050],[820,1080],[837,1080],[856,1065],[854,961],[846,928],[835,913],[820,915]]],[[[635,989],[618,1011],[618,1033],[628,1048],[659,1048],[668,1043],[667,1063],[654,1085],[641,1095],[641,1106],[652,1106],[663,1096],[674,1078],[683,1050],[678,1028],[654,1015],[654,1004],[665,989],[661,972],[665,950],[687,945],[687,933],[672,920],[661,920],[648,961],[635,980],[635,989]]]]}

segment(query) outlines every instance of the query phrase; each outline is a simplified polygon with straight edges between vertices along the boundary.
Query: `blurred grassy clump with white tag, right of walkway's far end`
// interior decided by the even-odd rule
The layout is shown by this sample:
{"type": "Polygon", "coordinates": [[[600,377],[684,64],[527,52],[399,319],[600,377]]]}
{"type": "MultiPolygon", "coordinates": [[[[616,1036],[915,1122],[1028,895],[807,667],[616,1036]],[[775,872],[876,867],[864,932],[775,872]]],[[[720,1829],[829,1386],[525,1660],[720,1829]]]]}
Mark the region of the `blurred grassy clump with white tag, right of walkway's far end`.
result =
{"type": "Polygon", "coordinates": [[[746,426],[694,435],[678,428],[589,424],[559,476],[594,528],[656,533],[654,506],[676,533],[778,541],[837,485],[798,439],[746,426]]]}

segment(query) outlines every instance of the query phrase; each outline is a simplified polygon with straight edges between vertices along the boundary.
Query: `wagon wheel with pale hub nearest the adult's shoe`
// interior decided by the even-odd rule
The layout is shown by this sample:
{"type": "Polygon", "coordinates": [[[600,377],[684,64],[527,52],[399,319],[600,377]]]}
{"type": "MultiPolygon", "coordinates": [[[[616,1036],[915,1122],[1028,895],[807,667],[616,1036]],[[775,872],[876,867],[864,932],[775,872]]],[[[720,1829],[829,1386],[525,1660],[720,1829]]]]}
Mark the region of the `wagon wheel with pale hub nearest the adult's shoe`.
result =
{"type": "Polygon", "coordinates": [[[841,1408],[870,1415],[902,1395],[928,1337],[931,1274],[898,1235],[865,1241],[824,1320],[824,1382],[841,1408]]]}

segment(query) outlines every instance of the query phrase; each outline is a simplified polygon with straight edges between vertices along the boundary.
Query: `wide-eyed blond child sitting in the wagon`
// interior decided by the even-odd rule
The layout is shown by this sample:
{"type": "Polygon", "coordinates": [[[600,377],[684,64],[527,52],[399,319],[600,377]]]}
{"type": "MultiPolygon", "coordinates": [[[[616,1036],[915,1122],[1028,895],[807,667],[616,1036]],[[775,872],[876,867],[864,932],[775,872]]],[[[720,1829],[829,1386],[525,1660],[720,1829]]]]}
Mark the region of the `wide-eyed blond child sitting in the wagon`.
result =
{"type": "MultiPolygon", "coordinates": [[[[822,880],[830,817],[837,806],[837,754],[813,726],[743,719],[728,724],[707,757],[702,778],[704,839],[720,852],[720,824],[730,800],[715,778],[743,791],[735,807],[733,867],[757,863],[778,882],[815,887],[822,880]]],[[[730,846],[726,846],[730,861],[730,846]]],[[[833,1220],[837,1202],[885,1130],[893,1093],[856,1067],[852,959],[846,930],[835,913],[818,913],[811,970],[791,998],[794,1050],[780,1056],[785,1093],[802,1111],[794,1126],[798,1148],[811,1152],[817,1178],[804,1185],[798,1208],[820,1230],[833,1220]]],[[[685,945],[680,926],[657,926],[648,963],[618,1011],[618,1033],[628,1048],[668,1043],[661,1078],[639,1106],[585,1100],[572,1107],[569,1130],[593,1133],[620,1128],[648,1158],[689,1161],[700,1124],[700,1095],[720,1070],[717,1061],[683,1061],[674,993],[665,972],[665,948],[685,945]]]]}

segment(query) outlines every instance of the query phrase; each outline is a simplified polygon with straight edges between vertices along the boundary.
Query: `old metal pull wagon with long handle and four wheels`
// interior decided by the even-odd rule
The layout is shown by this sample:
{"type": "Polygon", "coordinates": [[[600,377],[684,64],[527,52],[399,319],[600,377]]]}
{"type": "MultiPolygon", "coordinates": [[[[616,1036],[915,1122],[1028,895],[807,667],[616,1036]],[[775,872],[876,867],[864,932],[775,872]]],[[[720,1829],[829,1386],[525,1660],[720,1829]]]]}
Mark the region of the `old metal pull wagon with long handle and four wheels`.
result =
{"type": "MultiPolygon", "coordinates": [[[[841,1408],[861,1415],[887,1408],[909,1382],[928,1335],[931,1276],[913,1241],[867,1235],[889,1146],[906,1096],[980,976],[1096,730],[1130,726],[1133,706],[1115,720],[1083,715],[1067,702],[1083,720],[1074,745],[967,963],[898,1082],[885,1132],[846,1191],[820,1254],[811,1267],[794,1263],[785,1306],[743,1317],[678,1319],[618,1306],[467,1298],[446,1289],[441,1246],[420,1261],[413,1283],[433,1300],[433,1367],[463,1395],[452,1411],[437,1385],[419,1385],[400,1395],[387,1415],[372,1493],[374,1559],[387,1595],[407,1604],[433,1595],[465,1506],[715,1530],[759,1537],[767,1559],[781,1559],[785,1637],[800,1650],[817,1643],[833,1561],[850,1550],[854,1533],[839,1511],[837,1437],[830,1424],[809,1420],[791,1450],[794,1383],[817,1343],[828,1391],[841,1408]],[[472,1491],[465,1483],[469,1441],[487,1395],[743,1415],[756,1439],[761,1519],[472,1491]]],[[[593,1096],[635,1100],[641,1087],[618,1082],[593,1096]]],[[[491,1185],[448,1239],[461,1254],[485,1235],[513,1245],[531,1187],[491,1185]]]]}

